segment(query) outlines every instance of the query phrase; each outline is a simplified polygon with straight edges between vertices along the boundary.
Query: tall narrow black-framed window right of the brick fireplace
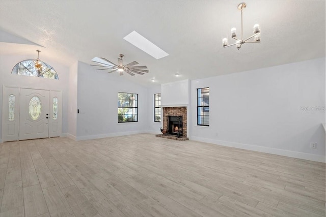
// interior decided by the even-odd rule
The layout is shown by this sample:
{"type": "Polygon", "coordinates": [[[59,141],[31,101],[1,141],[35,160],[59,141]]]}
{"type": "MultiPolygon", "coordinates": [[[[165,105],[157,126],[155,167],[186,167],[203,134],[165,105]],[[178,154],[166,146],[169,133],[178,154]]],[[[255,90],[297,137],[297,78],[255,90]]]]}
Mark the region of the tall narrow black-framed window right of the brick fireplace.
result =
{"type": "Polygon", "coordinates": [[[197,125],[209,126],[209,87],[197,89],[197,125]]]}

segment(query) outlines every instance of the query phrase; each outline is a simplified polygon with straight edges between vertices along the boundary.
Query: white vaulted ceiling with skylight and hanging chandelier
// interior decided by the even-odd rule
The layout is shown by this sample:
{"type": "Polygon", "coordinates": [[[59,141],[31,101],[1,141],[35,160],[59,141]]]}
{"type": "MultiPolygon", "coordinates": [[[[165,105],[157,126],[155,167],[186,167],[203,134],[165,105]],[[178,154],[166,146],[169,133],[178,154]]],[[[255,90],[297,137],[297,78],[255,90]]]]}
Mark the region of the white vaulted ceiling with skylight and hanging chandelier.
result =
{"type": "Polygon", "coordinates": [[[76,60],[92,64],[95,56],[116,63],[123,53],[124,63],[136,60],[150,72],[121,79],[145,86],[153,85],[152,78],[156,84],[198,79],[325,56],[325,1],[247,0],[243,37],[251,36],[259,23],[261,43],[244,44],[240,50],[223,48],[223,38],[233,43],[232,27],[240,33],[239,3],[1,0],[0,53],[36,58],[35,50],[40,49],[41,60],[66,66],[76,60]],[[155,59],[125,41],[133,30],[170,55],[155,59]]]}

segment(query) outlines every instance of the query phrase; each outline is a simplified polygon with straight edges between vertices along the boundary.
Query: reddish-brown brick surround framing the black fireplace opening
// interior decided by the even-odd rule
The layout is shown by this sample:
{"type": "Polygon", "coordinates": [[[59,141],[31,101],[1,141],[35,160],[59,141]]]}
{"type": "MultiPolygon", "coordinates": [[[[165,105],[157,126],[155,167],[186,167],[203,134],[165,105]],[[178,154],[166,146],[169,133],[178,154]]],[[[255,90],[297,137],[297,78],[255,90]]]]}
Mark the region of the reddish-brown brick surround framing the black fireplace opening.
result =
{"type": "Polygon", "coordinates": [[[168,116],[182,116],[182,137],[187,137],[187,107],[164,107],[163,129],[168,129],[168,116]]]}

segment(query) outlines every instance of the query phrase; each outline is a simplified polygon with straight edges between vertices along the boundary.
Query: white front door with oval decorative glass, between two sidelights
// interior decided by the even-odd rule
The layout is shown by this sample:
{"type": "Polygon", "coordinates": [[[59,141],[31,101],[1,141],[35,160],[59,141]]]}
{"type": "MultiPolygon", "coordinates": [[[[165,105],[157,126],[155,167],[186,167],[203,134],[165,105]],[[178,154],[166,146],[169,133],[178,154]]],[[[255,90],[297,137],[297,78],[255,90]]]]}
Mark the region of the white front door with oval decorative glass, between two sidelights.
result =
{"type": "Polygon", "coordinates": [[[19,140],[49,137],[49,93],[20,88],[19,140]]]}

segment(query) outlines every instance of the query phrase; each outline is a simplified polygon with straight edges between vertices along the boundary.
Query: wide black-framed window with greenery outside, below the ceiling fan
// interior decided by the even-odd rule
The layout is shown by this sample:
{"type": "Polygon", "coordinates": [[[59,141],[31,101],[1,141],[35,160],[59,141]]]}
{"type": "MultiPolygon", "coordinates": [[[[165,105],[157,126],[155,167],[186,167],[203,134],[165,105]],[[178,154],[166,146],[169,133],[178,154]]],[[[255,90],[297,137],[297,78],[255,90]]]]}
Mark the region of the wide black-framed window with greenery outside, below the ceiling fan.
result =
{"type": "Polygon", "coordinates": [[[118,92],[118,122],[138,121],[138,94],[118,92]]]}

